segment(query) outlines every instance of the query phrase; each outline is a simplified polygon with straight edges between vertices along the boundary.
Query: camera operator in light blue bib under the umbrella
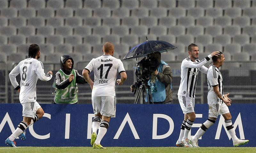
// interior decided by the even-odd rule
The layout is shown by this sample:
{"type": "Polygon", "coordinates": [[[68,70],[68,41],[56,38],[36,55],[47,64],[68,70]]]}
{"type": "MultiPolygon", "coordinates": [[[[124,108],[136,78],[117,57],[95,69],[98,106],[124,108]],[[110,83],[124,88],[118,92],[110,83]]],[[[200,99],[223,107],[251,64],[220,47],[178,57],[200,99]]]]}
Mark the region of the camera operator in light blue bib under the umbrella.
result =
{"type": "MultiPolygon", "coordinates": [[[[152,93],[152,101],[154,104],[169,104],[172,101],[172,69],[171,67],[161,60],[161,53],[154,52],[148,55],[151,60],[156,60],[158,66],[156,70],[153,70],[149,76],[148,85],[152,93]],[[151,80],[155,79],[155,83],[151,83],[151,80]]],[[[135,87],[140,87],[141,82],[134,82],[131,86],[131,91],[135,90],[135,87]]],[[[146,101],[147,98],[146,98],[146,101]]],[[[149,103],[152,103],[150,101],[149,103]]]]}

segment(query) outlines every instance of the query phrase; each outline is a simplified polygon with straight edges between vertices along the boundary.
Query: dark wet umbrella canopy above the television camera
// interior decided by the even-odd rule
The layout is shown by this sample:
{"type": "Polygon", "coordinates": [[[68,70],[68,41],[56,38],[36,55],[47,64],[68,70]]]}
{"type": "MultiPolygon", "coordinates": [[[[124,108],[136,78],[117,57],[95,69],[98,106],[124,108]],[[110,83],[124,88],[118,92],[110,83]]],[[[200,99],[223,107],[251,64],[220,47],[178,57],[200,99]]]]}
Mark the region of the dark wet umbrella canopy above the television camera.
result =
{"type": "Polygon", "coordinates": [[[143,57],[153,52],[167,52],[177,47],[174,45],[160,40],[147,40],[142,44],[133,47],[124,57],[124,59],[134,59],[143,57]]]}

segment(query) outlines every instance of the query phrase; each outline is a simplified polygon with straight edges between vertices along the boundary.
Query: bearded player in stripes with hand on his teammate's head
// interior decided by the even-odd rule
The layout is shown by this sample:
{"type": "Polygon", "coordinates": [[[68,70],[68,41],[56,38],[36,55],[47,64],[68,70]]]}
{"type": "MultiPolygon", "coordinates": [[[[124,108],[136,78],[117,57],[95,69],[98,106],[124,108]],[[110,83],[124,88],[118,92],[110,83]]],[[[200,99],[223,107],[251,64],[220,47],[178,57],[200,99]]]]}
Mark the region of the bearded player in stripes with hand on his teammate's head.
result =
{"type": "Polygon", "coordinates": [[[194,106],[197,76],[199,71],[207,74],[208,68],[205,67],[204,64],[207,63],[212,56],[219,55],[218,53],[219,52],[212,52],[200,61],[198,60],[198,46],[193,43],[188,46],[189,57],[184,59],[181,63],[181,80],[178,99],[184,114],[184,120],[181,124],[179,139],[176,142],[177,147],[193,147],[188,142],[188,132],[196,118],[194,106]]]}

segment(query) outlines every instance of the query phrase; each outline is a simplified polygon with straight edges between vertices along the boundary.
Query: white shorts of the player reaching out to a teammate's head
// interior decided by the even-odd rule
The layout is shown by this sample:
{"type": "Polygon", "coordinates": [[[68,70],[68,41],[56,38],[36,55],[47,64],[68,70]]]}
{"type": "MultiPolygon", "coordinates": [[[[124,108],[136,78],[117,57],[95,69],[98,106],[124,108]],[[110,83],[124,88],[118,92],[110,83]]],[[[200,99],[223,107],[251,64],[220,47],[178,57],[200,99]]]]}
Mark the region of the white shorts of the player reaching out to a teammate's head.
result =
{"type": "Polygon", "coordinates": [[[195,98],[178,95],[183,114],[195,112],[195,98]]]}

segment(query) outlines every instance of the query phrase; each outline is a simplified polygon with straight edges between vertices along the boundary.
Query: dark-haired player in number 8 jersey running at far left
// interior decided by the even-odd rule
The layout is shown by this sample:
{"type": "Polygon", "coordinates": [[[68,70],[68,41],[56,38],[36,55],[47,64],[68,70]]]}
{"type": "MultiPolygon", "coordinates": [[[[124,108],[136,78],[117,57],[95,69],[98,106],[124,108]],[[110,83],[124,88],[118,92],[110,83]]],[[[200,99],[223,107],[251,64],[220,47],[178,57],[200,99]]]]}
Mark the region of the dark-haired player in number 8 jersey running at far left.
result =
{"type": "Polygon", "coordinates": [[[32,44],[28,48],[28,58],[20,61],[9,74],[12,86],[20,93],[19,99],[22,105],[23,121],[18,128],[9,136],[5,143],[11,147],[16,147],[15,139],[19,136],[25,140],[25,130],[29,125],[39,120],[44,115],[44,110],[36,101],[36,84],[38,78],[42,81],[48,81],[52,78],[52,71],[44,73],[44,65],[38,59],[40,58],[40,48],[32,44]],[[16,76],[20,74],[20,85],[16,76]],[[24,133],[23,133],[24,132],[24,133]],[[23,134],[23,136],[20,136],[23,134]]]}

